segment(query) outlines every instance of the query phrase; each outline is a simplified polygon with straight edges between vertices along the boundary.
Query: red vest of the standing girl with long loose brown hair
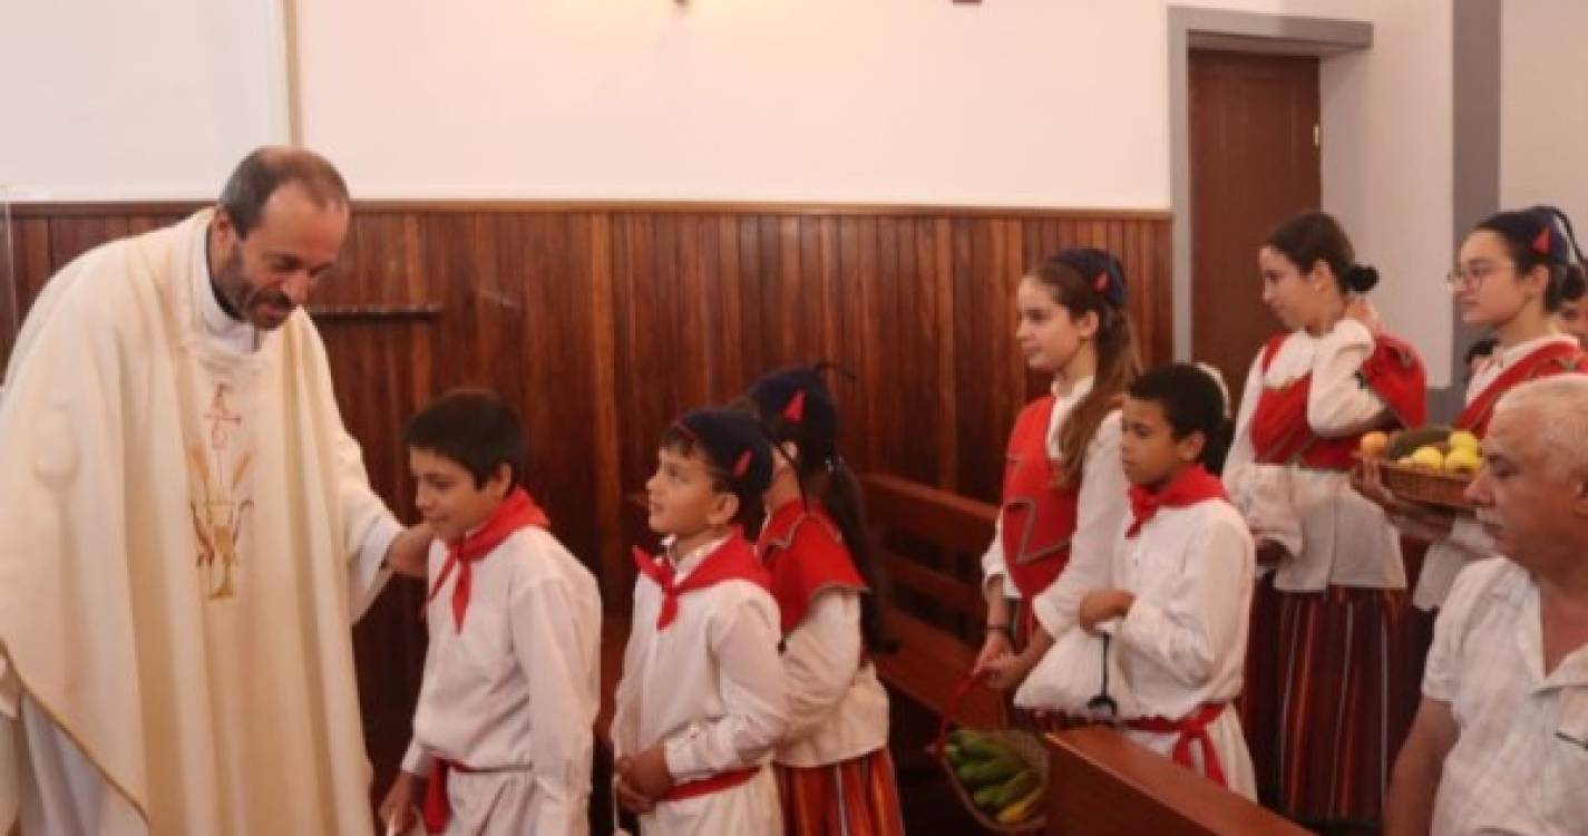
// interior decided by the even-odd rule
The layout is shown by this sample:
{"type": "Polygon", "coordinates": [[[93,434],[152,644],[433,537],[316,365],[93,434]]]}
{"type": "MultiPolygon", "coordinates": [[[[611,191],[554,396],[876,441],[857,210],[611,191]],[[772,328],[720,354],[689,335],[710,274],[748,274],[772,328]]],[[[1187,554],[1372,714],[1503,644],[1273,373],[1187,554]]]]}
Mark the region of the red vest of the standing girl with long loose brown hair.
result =
{"type": "Polygon", "coordinates": [[[1053,405],[1050,394],[1019,410],[1004,467],[1004,563],[1026,601],[1046,590],[1069,563],[1080,502],[1080,485],[1053,485],[1048,459],[1053,405]]]}

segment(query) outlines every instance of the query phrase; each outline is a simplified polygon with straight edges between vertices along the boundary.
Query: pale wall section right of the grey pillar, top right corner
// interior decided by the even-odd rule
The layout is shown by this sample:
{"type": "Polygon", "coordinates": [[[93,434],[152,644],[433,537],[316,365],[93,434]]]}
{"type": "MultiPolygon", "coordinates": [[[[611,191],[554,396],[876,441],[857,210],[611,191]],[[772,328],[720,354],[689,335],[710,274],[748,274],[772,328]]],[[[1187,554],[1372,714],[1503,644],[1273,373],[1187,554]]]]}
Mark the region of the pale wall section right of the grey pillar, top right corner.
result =
{"type": "Polygon", "coordinates": [[[1588,245],[1588,3],[1501,3],[1501,203],[1561,207],[1588,245]]]}

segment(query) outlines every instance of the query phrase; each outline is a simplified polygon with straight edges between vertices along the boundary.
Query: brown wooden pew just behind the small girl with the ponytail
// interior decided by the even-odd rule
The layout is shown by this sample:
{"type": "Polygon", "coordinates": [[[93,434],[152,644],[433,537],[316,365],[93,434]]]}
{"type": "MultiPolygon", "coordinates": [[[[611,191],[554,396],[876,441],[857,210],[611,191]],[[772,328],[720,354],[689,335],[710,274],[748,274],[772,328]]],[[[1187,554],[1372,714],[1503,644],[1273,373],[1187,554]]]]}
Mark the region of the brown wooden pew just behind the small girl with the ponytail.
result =
{"type": "MultiPolygon", "coordinates": [[[[892,475],[867,474],[865,510],[892,586],[888,628],[899,650],[878,656],[881,679],[943,712],[975,663],[981,639],[980,556],[992,540],[997,509],[892,475]]],[[[997,726],[1002,699],[981,685],[959,704],[959,720],[997,726]]]]}

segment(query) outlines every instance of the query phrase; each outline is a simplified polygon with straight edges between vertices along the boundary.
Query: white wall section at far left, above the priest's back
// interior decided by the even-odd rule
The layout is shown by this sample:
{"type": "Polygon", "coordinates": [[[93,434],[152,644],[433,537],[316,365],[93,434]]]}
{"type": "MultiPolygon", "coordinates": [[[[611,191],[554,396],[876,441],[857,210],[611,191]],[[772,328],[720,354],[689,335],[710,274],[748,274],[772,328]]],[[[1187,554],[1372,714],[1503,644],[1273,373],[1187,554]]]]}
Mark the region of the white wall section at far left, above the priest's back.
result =
{"type": "Polygon", "coordinates": [[[278,0],[0,0],[11,199],[208,197],[286,135],[278,0]]]}

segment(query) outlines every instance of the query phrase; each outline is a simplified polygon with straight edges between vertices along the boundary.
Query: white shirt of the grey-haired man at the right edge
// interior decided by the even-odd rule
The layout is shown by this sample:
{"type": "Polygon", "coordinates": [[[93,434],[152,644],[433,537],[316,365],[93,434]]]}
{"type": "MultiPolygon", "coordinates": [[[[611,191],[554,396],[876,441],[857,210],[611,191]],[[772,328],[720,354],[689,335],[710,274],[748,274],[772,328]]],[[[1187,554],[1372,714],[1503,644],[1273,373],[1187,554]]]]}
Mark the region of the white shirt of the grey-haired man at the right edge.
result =
{"type": "Polygon", "coordinates": [[[1539,586],[1526,569],[1490,558],[1461,572],[1423,695],[1448,704],[1458,728],[1434,834],[1588,833],[1588,647],[1544,672],[1539,586]]]}

